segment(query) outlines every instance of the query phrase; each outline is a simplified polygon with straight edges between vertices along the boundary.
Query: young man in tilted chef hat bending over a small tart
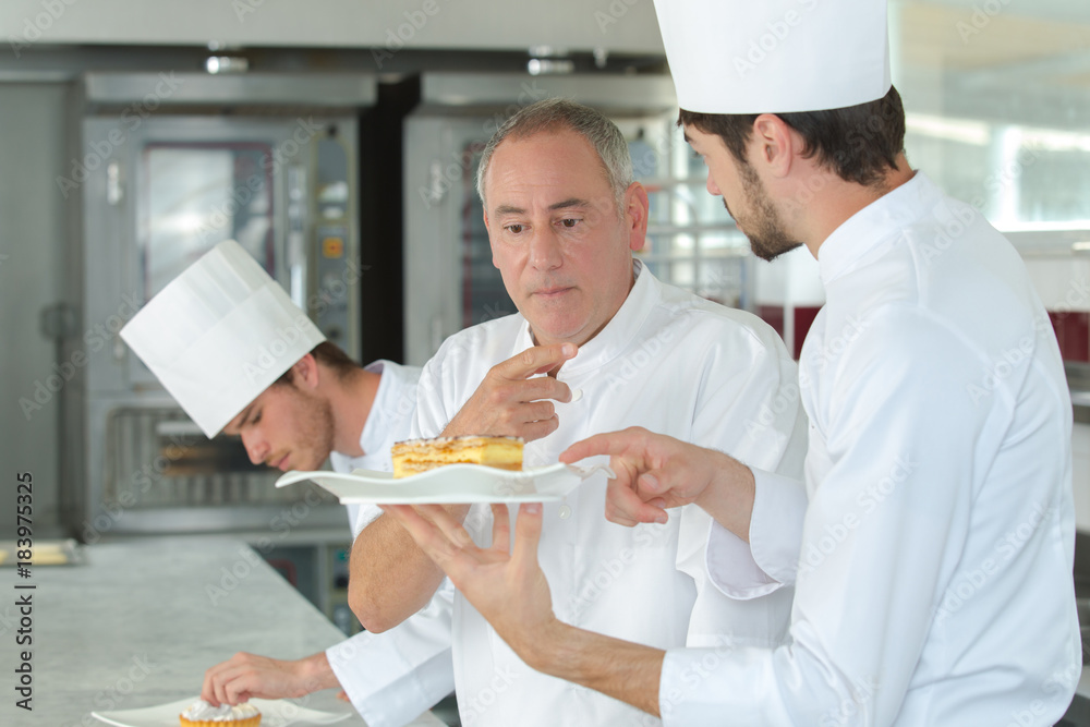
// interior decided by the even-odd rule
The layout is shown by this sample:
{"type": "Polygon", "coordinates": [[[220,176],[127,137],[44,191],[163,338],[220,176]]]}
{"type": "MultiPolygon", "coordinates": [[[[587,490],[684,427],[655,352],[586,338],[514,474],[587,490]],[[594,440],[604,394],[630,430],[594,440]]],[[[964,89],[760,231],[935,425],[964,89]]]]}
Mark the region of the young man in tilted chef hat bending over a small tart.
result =
{"type": "MultiPolygon", "coordinates": [[[[420,369],[360,368],[234,241],[171,281],[121,336],[208,437],[240,435],[254,463],[389,470],[391,444],[409,434],[420,369]]],[[[350,512],[353,536],[377,514],[350,512]]],[[[453,689],[449,650],[435,645],[449,632],[449,598],[444,587],[398,629],[306,658],[238,654],[208,670],[202,696],[235,704],[339,684],[368,725],[405,724],[453,689]]]]}

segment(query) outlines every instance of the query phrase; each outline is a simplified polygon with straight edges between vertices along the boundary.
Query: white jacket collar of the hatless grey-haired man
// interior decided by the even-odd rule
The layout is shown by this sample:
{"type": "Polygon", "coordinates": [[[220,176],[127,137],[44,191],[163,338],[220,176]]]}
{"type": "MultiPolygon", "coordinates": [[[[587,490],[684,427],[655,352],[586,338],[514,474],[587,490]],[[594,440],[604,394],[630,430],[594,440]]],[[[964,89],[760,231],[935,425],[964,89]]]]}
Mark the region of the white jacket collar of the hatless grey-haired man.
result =
{"type": "MultiPolygon", "coordinates": [[[[564,364],[559,374],[561,380],[593,372],[609,363],[628,348],[629,341],[640,331],[643,322],[658,302],[658,281],[639,259],[632,260],[632,274],[635,276],[635,283],[628,292],[628,298],[598,335],[579,347],[576,358],[564,364]]],[[[511,355],[531,346],[534,346],[534,339],[530,335],[530,324],[524,323],[511,355]]]]}

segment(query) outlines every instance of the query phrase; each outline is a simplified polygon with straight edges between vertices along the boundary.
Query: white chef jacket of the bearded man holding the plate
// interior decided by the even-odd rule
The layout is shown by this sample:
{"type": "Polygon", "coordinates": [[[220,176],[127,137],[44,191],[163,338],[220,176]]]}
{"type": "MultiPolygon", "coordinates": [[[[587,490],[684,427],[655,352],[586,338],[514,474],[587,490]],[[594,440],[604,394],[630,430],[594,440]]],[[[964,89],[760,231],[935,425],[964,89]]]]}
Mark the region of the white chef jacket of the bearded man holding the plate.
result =
{"type": "MultiPolygon", "coordinates": [[[[1025,266],[920,172],[819,263],[804,525],[779,526],[800,501],[759,472],[750,530],[756,562],[797,569],[790,639],[670,651],[665,723],[1054,724],[1081,670],[1071,404],[1025,266]]],[[[716,554],[728,535],[716,525],[708,568],[743,596],[716,554]]]]}

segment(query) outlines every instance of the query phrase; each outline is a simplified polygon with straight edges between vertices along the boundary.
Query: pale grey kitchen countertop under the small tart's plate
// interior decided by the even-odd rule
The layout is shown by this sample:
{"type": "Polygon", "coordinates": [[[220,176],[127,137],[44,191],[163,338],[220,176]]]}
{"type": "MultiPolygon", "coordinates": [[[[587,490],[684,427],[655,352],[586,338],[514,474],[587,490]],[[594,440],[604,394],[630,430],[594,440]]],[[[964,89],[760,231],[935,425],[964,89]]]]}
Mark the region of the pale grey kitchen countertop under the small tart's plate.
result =
{"type": "MultiPolygon", "coordinates": [[[[8,675],[0,724],[94,727],[92,711],[131,710],[196,698],[205,669],[247,651],[299,658],[344,635],[234,537],[149,537],[87,546],[83,566],[3,569],[0,670],[8,675]],[[227,569],[226,571],[223,569],[227,569]],[[233,575],[228,578],[228,573],[233,575]],[[17,581],[17,583],[16,583],[17,581]],[[15,585],[34,584],[34,590],[15,585]],[[16,645],[15,601],[32,597],[31,646],[16,645]],[[33,712],[15,706],[20,652],[33,650],[33,712]]],[[[295,700],[350,713],[325,690],[295,700]]],[[[440,727],[426,713],[414,727],[440,727]]]]}

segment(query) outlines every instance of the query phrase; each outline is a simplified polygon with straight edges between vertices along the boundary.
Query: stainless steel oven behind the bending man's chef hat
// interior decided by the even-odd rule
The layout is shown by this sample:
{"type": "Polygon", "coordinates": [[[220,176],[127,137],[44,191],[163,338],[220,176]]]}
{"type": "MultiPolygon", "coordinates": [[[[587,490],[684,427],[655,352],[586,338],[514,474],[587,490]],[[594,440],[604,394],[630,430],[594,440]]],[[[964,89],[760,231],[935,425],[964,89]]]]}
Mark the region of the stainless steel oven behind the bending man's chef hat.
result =
{"type": "MultiPolygon", "coordinates": [[[[343,525],[318,490],[276,489],[239,440],[206,439],[118,331],[190,263],[237,240],[329,340],[360,350],[359,114],[366,75],[88,74],[68,178],[81,326],[68,338],[70,529],[343,525]],[[287,513],[287,514],[286,514],[287,513]]],[[[164,331],[169,336],[170,331],[164,331]]]]}

